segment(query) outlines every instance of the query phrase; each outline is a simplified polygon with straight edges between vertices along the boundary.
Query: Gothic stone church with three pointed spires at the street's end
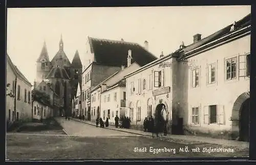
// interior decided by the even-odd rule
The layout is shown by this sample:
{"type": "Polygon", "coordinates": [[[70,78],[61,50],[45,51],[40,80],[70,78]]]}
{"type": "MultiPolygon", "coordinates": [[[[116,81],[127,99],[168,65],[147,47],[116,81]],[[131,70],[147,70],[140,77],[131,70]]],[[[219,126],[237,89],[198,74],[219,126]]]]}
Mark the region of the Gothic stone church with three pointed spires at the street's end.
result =
{"type": "Polygon", "coordinates": [[[36,61],[36,80],[34,84],[39,84],[45,80],[54,90],[60,99],[59,115],[72,114],[72,98],[76,94],[77,84],[81,84],[82,65],[79,53],[76,50],[72,62],[69,61],[64,51],[62,35],[59,41],[59,49],[50,61],[46,42],[42,47],[40,56],[36,61]]]}

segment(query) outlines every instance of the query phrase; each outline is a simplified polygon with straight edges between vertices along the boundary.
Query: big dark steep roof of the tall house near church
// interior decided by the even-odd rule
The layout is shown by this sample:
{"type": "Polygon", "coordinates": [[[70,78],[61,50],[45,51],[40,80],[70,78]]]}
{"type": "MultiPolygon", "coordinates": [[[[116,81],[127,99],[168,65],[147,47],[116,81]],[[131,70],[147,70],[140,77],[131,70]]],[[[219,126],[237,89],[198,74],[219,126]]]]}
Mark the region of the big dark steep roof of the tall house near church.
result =
{"type": "Polygon", "coordinates": [[[132,63],[137,62],[144,66],[157,59],[151,52],[138,43],[97,39],[89,37],[91,52],[95,62],[108,65],[127,66],[128,50],[132,50],[132,63]]]}

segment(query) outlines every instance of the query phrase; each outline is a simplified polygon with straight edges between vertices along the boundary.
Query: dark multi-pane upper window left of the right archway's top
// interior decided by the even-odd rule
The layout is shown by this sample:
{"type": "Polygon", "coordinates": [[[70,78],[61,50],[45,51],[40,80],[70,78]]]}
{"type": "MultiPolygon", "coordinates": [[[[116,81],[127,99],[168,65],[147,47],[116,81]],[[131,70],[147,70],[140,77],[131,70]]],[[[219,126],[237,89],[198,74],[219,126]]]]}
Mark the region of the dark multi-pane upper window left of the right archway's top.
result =
{"type": "Polygon", "coordinates": [[[237,78],[237,58],[226,60],[226,79],[237,78]]]}

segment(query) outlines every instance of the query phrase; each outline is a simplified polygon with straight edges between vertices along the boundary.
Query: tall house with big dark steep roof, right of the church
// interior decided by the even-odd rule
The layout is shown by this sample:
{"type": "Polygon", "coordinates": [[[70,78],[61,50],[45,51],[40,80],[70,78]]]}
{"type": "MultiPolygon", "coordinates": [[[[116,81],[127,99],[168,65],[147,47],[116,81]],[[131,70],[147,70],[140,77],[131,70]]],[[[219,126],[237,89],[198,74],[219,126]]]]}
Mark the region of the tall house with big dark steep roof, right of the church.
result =
{"type": "MultiPolygon", "coordinates": [[[[147,43],[148,44],[148,43],[147,43]]],[[[82,69],[82,111],[88,120],[93,116],[90,91],[100,82],[136,62],[144,66],[157,59],[137,43],[88,37],[87,54],[82,69]],[[127,63],[129,61],[129,63],[127,63]]]]}

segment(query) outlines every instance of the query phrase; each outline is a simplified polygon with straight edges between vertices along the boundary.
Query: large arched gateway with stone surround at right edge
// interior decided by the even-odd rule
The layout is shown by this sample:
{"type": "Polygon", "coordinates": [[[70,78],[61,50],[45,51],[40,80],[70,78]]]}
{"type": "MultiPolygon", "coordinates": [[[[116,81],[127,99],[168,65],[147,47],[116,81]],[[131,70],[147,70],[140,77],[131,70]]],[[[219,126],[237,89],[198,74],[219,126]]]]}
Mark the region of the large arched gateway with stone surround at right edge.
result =
{"type": "Polygon", "coordinates": [[[250,93],[241,94],[233,104],[231,122],[232,139],[249,141],[250,93]],[[238,138],[239,137],[239,138],[238,138]]]}

